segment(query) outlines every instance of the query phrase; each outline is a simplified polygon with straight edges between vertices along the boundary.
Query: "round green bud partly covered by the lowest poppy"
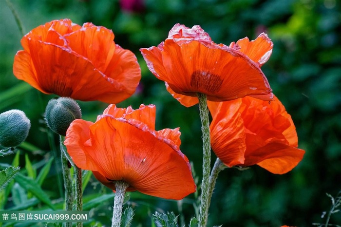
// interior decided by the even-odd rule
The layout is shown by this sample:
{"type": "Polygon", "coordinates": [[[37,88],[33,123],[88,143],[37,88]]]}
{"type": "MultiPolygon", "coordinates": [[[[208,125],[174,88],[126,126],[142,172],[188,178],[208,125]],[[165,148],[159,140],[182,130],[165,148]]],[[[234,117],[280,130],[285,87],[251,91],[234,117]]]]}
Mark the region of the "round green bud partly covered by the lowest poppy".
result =
{"type": "Polygon", "coordinates": [[[72,98],[51,99],[46,106],[45,121],[47,126],[59,135],[65,136],[71,122],[81,117],[80,107],[72,98]]]}

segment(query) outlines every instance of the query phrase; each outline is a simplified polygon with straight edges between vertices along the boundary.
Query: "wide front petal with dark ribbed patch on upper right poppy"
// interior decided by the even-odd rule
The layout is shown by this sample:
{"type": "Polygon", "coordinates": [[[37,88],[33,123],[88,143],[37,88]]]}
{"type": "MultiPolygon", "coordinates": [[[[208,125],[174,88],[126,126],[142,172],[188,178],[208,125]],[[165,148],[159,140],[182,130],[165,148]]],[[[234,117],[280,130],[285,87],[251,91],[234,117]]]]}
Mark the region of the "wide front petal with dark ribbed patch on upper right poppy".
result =
{"type": "Polygon", "coordinates": [[[170,39],[163,48],[162,68],[155,67],[160,64],[153,65],[151,71],[168,82],[175,93],[189,96],[204,93],[208,100],[226,101],[271,92],[258,66],[233,49],[218,45],[208,48],[195,40],[178,45],[170,39]],[[164,69],[167,74],[162,74],[164,69]]]}

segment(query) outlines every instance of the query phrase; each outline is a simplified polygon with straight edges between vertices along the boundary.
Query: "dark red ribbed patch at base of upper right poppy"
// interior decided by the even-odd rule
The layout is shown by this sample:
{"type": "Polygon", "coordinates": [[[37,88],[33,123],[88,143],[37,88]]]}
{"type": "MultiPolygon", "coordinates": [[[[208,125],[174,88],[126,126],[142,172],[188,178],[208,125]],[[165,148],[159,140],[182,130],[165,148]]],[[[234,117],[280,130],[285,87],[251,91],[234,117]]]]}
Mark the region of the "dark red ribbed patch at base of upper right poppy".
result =
{"type": "Polygon", "coordinates": [[[218,92],[223,80],[216,74],[205,71],[194,71],[190,77],[190,85],[197,90],[204,90],[209,93],[218,92]]]}

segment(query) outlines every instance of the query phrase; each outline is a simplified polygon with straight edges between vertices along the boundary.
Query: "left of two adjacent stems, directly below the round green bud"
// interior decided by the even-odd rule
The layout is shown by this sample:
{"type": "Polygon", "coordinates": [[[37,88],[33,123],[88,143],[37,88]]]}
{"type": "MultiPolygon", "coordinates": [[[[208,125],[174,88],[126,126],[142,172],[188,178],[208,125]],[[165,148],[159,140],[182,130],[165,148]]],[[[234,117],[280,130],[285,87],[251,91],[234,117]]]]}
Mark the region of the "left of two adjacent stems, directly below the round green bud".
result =
{"type": "MultiPolygon", "coordinates": [[[[74,194],[72,190],[72,180],[71,180],[71,171],[69,168],[69,161],[65,155],[64,148],[64,136],[59,136],[60,142],[60,156],[61,156],[61,170],[63,172],[64,178],[64,189],[65,189],[65,209],[72,210],[73,202],[74,202],[74,194]]],[[[65,223],[66,227],[72,227],[71,222],[65,223]]]]}

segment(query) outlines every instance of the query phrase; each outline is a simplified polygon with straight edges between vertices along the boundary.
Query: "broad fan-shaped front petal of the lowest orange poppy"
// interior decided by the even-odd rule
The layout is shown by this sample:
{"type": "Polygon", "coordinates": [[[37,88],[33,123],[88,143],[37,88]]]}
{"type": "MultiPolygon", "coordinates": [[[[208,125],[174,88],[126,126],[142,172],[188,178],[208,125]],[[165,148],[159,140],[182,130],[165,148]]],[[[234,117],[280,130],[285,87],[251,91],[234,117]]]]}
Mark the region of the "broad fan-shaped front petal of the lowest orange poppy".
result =
{"type": "Polygon", "coordinates": [[[103,115],[90,126],[90,137],[91,147],[83,146],[84,153],[108,181],[124,180],[129,190],[167,199],[195,191],[186,156],[152,131],[103,115]]]}

